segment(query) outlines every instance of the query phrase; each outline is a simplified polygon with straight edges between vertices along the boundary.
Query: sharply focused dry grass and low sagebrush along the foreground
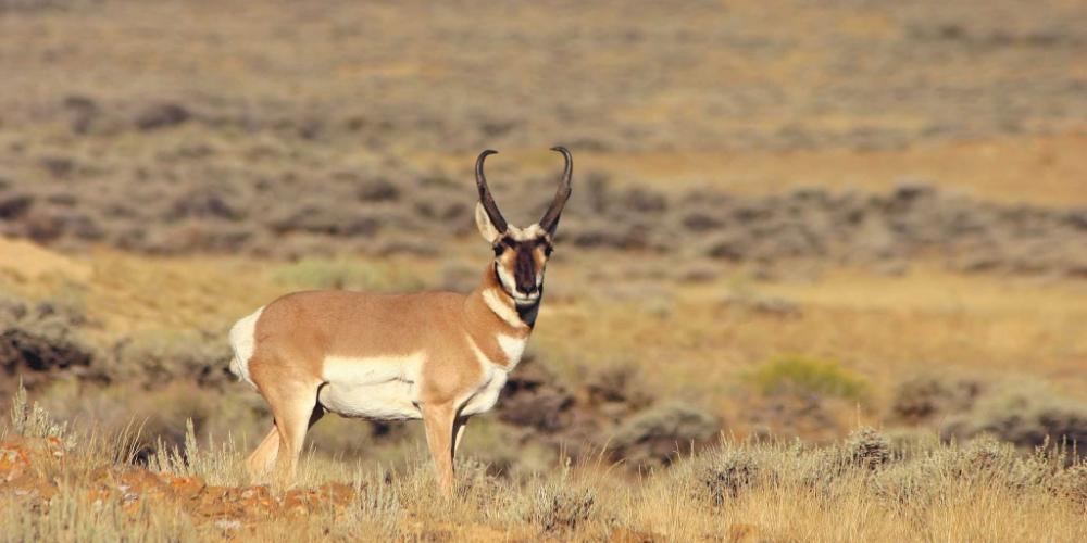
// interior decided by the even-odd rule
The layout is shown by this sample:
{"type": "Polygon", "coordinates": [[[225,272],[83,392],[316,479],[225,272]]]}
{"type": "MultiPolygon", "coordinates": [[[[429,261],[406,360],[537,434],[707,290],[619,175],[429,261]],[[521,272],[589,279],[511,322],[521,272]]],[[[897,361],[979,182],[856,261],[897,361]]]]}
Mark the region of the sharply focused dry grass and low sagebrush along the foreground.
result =
{"type": "MultiPolygon", "coordinates": [[[[26,411],[22,401],[15,414],[26,411]]],[[[425,465],[375,471],[310,459],[299,487],[342,481],[349,497],[315,502],[304,515],[289,508],[268,515],[262,510],[275,510],[288,496],[216,509],[209,497],[216,487],[191,497],[157,497],[136,482],[116,491],[110,477],[150,477],[125,466],[132,433],[58,429],[40,412],[29,421],[16,415],[15,422],[28,438],[58,438],[60,452],[32,456],[30,471],[0,483],[0,519],[11,541],[349,540],[359,533],[383,540],[1074,541],[1087,529],[1083,466],[1065,467],[1060,450],[1021,456],[987,440],[959,446],[929,439],[891,450],[870,429],[821,449],[727,440],[637,481],[599,463],[516,480],[462,464],[451,501],[435,492],[425,465]],[[27,482],[50,480],[55,483],[27,482]],[[45,490],[51,497],[15,490],[28,488],[51,488],[45,490]],[[836,520],[827,522],[828,515],[836,520]]],[[[29,442],[8,441],[4,451],[23,443],[29,442]]],[[[162,477],[245,487],[240,465],[229,443],[198,446],[190,426],[184,450],[160,454],[148,467],[162,477]]]]}

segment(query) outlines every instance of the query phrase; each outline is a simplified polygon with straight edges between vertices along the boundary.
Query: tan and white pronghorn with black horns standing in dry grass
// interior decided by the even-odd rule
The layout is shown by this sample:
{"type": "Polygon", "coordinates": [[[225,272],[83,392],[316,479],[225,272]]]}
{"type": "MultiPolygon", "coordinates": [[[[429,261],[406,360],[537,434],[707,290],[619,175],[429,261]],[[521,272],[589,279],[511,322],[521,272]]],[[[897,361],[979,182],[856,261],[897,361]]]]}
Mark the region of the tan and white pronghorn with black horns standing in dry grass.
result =
{"type": "Polygon", "coordinates": [[[305,432],[325,412],[379,420],[422,418],[443,492],[452,491],[453,455],[472,415],[495,406],[521,361],[544,293],[559,216],[570,198],[573,159],[539,223],[502,218],[475,164],[475,220],[495,250],[470,294],[368,294],[338,290],[287,294],[230,329],[230,370],[252,384],[275,424],[249,456],[254,477],[295,478],[305,432]]]}

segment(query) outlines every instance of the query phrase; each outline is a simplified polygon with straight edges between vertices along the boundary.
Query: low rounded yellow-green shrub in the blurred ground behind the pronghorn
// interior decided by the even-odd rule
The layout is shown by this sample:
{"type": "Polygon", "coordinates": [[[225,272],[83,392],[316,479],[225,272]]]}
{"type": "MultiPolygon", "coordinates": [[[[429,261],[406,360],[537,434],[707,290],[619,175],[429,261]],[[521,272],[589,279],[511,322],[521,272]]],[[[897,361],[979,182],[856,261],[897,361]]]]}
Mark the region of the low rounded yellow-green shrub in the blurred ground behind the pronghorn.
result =
{"type": "Polygon", "coordinates": [[[802,355],[780,355],[763,363],[751,380],[764,394],[828,394],[861,400],[867,393],[867,380],[837,361],[802,355]]]}

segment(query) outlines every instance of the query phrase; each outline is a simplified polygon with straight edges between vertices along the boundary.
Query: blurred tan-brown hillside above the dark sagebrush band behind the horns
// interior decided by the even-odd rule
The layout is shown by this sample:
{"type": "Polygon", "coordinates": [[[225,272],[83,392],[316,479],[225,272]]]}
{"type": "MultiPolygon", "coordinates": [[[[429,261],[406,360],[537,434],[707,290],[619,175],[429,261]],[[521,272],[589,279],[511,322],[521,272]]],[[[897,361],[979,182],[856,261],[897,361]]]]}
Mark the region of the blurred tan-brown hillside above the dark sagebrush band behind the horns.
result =
{"type": "Polygon", "coordinates": [[[496,176],[513,168],[501,195],[561,141],[621,181],[920,177],[1082,204],[1087,8],[1021,7],[11,0],[0,164],[9,185],[121,201],[337,174],[461,181],[492,147],[496,176]]]}

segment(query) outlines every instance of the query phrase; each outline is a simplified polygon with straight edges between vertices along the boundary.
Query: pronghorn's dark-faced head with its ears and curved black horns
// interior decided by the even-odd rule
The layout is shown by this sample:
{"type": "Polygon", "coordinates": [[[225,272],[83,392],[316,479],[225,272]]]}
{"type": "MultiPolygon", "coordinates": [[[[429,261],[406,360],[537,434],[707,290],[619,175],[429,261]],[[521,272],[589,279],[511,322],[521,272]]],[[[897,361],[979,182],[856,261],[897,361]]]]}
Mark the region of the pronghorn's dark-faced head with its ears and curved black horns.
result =
{"type": "Polygon", "coordinates": [[[544,218],[527,228],[517,228],[502,218],[498,211],[487,178],[483,173],[483,163],[488,155],[497,151],[487,150],[479,153],[476,160],[476,185],[479,188],[479,203],[476,204],[476,226],[495,249],[495,273],[508,294],[518,306],[535,305],[544,291],[544,268],[551,256],[552,241],[559,227],[559,215],[570,198],[570,178],[574,169],[574,161],[564,147],[551,148],[562,153],[566,161],[559,191],[548,207],[544,218]]]}

